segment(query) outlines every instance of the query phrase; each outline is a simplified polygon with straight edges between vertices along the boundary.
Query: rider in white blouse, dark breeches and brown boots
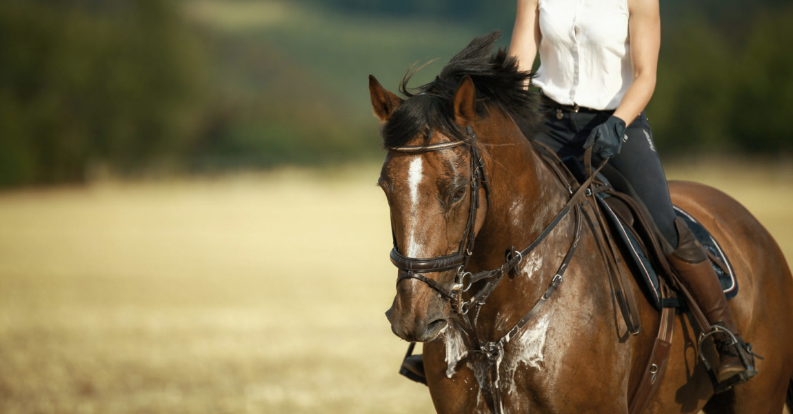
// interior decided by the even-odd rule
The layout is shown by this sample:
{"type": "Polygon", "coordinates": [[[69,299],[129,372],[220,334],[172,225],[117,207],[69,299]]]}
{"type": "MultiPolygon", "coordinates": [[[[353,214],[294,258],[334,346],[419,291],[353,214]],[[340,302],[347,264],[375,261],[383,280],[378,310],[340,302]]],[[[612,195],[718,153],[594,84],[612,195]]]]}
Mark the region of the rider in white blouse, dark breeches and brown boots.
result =
{"type": "MultiPolygon", "coordinates": [[[[638,196],[668,242],[667,258],[710,324],[741,340],[722,287],[702,247],[676,219],[644,108],[653,96],[661,44],[658,0],[518,0],[510,54],[542,92],[546,131],[536,140],[564,159],[594,154],[627,181],[617,190],[638,196]]],[[[751,378],[728,335],[714,335],[718,381],[751,378]]],[[[741,340],[741,346],[743,346],[741,340]]]]}

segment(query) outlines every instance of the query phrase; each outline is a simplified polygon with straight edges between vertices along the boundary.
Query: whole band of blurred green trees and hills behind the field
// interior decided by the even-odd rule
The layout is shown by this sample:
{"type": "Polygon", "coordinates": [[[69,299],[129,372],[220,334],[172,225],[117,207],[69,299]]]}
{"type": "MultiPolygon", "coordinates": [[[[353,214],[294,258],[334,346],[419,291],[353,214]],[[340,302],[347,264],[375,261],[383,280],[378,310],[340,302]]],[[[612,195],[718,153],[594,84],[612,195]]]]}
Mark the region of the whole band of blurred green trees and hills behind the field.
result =
{"type": "MultiPolygon", "coordinates": [[[[434,77],[514,0],[0,0],[0,186],[381,155],[366,75],[434,77]]],[[[793,155],[793,7],[662,0],[665,155],[793,155]]]]}

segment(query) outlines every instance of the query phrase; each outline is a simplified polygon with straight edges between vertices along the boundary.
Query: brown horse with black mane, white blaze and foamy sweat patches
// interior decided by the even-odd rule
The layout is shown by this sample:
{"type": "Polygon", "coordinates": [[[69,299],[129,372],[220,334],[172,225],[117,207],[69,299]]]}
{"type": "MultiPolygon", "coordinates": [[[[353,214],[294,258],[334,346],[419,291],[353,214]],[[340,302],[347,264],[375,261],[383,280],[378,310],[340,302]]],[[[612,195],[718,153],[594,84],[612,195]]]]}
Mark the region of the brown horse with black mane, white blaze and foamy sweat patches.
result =
{"type": "MultiPolygon", "coordinates": [[[[438,412],[627,413],[658,312],[638,301],[644,329],[630,335],[599,230],[581,218],[588,194],[571,196],[527,140],[539,119],[524,88],[531,75],[503,50],[492,54],[495,39],[473,40],[419,94],[406,76],[406,99],[370,77],[388,150],[378,183],[400,267],[386,314],[397,336],[424,343],[438,412]]],[[[714,396],[697,332],[676,316],[665,376],[644,412],[778,414],[793,389],[793,278],[780,248],[726,194],[692,182],[670,190],[730,256],[741,286],[730,309],[764,359],[757,377],[714,396]]]]}

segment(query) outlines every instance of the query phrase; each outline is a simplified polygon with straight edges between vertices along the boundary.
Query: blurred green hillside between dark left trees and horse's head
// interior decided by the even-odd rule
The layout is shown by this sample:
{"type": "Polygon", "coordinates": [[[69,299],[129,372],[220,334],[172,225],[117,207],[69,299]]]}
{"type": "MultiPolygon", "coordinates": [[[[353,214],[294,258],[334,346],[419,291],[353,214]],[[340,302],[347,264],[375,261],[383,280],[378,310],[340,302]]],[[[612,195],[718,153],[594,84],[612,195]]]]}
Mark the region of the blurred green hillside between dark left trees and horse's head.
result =
{"type": "Polygon", "coordinates": [[[288,2],[196,2],[187,14],[213,45],[220,93],[235,108],[221,115],[226,129],[204,143],[209,168],[377,153],[368,75],[396,89],[410,64],[447,60],[477,35],[459,25],[288,2]]]}

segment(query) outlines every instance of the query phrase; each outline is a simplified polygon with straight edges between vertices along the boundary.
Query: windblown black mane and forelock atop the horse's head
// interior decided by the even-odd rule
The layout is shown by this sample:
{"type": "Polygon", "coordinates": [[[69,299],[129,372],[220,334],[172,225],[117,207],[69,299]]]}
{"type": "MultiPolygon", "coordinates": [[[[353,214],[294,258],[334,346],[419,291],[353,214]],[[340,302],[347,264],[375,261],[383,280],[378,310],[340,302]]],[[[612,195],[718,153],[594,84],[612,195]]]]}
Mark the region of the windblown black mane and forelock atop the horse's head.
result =
{"type": "MultiPolygon", "coordinates": [[[[477,114],[485,116],[488,105],[495,105],[511,115],[524,133],[539,124],[537,97],[525,85],[533,76],[519,71],[518,61],[504,48],[492,54],[493,44],[501,36],[493,32],[479,36],[443,67],[434,81],[408,90],[408,82],[416,71],[408,71],[400,83],[400,92],[408,98],[383,125],[381,134],[385,148],[400,147],[419,133],[428,144],[432,132],[463,139],[462,128],[454,121],[454,93],[465,75],[469,75],[477,91],[477,114]]],[[[420,68],[419,68],[420,69],[420,68]]]]}

